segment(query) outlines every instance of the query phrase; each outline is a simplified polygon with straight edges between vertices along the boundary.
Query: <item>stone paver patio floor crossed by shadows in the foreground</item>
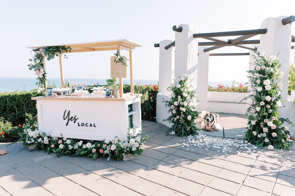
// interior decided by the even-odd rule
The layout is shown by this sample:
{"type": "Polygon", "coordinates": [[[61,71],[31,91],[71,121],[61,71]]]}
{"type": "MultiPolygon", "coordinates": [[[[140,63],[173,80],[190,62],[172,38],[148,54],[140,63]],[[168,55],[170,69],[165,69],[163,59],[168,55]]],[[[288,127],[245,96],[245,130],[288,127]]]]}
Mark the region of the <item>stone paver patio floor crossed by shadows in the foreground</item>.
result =
{"type": "MultiPolygon", "coordinates": [[[[183,138],[166,136],[167,130],[142,121],[142,135],[150,136],[145,152],[125,162],[57,158],[30,152],[22,143],[7,148],[2,143],[0,149],[9,153],[0,156],[0,195],[294,195],[295,145],[256,153],[234,148],[224,154],[212,146],[186,150],[183,138]]],[[[245,129],[224,132],[225,137],[242,138],[245,129]]],[[[202,133],[223,137],[223,130],[202,133]]]]}

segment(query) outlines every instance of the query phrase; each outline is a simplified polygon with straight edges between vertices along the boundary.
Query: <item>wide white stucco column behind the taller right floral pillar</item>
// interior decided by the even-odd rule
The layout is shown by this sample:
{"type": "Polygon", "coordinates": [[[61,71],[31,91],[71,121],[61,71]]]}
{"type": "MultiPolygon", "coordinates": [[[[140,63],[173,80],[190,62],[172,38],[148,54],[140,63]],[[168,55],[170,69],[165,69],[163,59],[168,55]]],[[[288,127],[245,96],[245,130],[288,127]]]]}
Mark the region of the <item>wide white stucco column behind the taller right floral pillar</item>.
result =
{"type": "Polygon", "coordinates": [[[267,18],[261,23],[261,29],[267,29],[267,33],[260,35],[259,49],[259,51],[265,52],[266,57],[277,55],[278,52],[281,52],[278,58],[282,63],[280,71],[284,72],[284,92],[281,93],[283,100],[286,100],[288,95],[288,71],[291,48],[291,25],[282,24],[282,19],[286,17],[267,18]]]}

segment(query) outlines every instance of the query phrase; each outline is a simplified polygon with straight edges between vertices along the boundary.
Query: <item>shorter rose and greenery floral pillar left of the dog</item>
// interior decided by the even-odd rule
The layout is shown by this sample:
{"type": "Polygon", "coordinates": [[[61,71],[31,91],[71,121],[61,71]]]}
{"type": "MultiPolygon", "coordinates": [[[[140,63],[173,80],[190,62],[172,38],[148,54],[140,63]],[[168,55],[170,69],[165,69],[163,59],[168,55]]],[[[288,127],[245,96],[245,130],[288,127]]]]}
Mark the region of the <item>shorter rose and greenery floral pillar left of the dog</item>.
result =
{"type": "Polygon", "coordinates": [[[168,130],[169,134],[178,136],[194,135],[197,134],[195,120],[199,115],[194,104],[194,101],[196,101],[194,88],[189,84],[186,74],[183,74],[183,77],[178,76],[178,78],[178,81],[173,78],[175,83],[172,83],[167,88],[171,92],[168,96],[169,100],[163,99],[163,103],[165,103],[166,108],[169,108],[168,112],[171,114],[163,121],[173,123],[168,130]]]}

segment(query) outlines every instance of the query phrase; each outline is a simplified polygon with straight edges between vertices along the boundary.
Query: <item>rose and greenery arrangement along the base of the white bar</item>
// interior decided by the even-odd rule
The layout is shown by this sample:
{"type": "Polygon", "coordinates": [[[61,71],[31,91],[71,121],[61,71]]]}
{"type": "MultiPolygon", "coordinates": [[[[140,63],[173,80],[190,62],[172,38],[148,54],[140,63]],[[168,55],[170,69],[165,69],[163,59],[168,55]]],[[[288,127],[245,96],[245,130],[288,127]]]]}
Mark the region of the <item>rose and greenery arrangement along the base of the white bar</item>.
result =
{"type": "MultiPolygon", "coordinates": [[[[30,114],[27,114],[27,124],[23,125],[23,133],[19,133],[19,140],[15,142],[23,142],[25,147],[36,145],[39,150],[45,152],[56,153],[57,156],[86,156],[88,158],[99,158],[100,156],[115,158],[117,161],[122,160],[123,155],[132,154],[133,156],[140,155],[143,150],[141,145],[148,140],[148,135],[141,136],[141,130],[128,129],[127,137],[115,136],[113,140],[79,140],[71,138],[52,137],[41,133],[38,130],[38,123],[30,114]]],[[[14,142],[14,143],[15,143],[14,142]]]]}

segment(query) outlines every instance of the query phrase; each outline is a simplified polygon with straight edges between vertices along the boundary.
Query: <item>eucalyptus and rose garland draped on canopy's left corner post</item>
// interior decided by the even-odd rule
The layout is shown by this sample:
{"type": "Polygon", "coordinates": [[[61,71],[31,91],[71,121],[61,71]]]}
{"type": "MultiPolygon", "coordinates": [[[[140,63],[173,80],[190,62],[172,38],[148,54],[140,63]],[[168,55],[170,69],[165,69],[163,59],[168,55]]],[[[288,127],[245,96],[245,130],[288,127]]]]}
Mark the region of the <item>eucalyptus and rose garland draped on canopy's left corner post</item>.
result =
{"type": "MultiPolygon", "coordinates": [[[[32,50],[34,52],[34,56],[32,59],[29,59],[31,61],[29,66],[29,70],[34,70],[35,74],[38,76],[36,80],[36,85],[38,85],[37,91],[38,93],[40,92],[45,92],[45,86],[46,86],[46,71],[44,69],[44,58],[46,57],[47,60],[51,60],[58,56],[59,54],[62,54],[64,51],[66,52],[71,52],[70,46],[65,47],[65,46],[47,46],[43,48],[36,48],[32,50]]],[[[65,58],[68,58],[66,55],[64,55],[65,58]]]]}

